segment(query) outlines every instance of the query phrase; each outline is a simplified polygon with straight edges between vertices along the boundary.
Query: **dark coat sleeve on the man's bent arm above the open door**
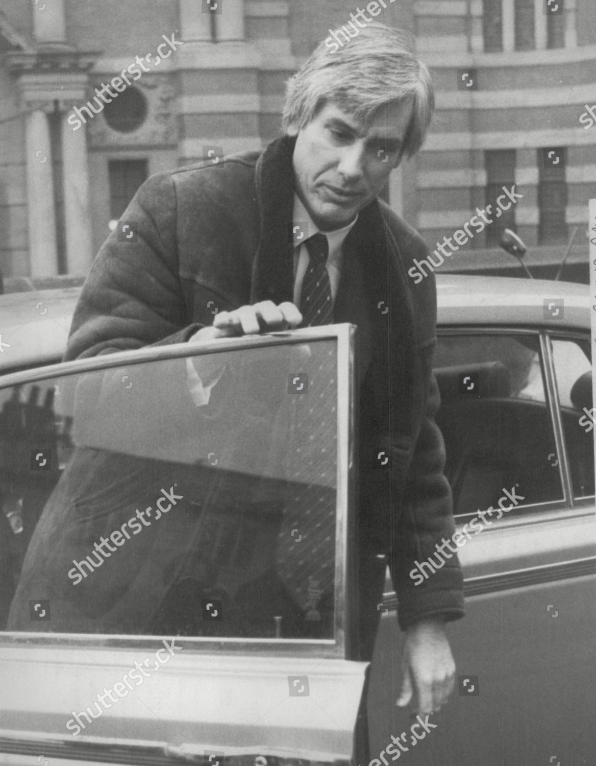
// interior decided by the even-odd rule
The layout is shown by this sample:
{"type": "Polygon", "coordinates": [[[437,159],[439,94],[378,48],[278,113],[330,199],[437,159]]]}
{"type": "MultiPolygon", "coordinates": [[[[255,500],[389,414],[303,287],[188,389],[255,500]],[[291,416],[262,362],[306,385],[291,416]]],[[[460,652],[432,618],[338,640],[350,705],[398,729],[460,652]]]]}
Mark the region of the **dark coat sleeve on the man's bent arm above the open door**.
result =
{"type": "Polygon", "coordinates": [[[177,199],[171,174],[148,178],[91,267],[73,316],[65,361],[184,342],[192,323],[177,264],[177,199]]]}

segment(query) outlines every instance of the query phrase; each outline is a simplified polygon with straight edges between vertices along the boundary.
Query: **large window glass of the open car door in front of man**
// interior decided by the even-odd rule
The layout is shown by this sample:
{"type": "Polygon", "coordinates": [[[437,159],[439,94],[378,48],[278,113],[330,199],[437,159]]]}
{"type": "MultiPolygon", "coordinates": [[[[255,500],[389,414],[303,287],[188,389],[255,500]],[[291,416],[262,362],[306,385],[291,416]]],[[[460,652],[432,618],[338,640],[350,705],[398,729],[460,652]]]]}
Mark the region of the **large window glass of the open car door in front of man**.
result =
{"type": "Polygon", "coordinates": [[[7,388],[0,420],[3,629],[334,637],[335,340],[7,388]]]}

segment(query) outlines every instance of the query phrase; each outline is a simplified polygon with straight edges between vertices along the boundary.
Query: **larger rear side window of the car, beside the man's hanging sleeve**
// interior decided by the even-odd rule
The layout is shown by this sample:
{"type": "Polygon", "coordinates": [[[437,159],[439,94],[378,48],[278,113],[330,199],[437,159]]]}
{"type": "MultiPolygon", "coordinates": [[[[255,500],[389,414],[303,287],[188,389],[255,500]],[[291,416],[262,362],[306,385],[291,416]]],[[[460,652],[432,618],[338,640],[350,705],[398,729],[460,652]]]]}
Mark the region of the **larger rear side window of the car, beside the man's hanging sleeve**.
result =
{"type": "Polygon", "coordinates": [[[497,507],[513,486],[524,506],[562,499],[538,336],[439,336],[435,375],[457,515],[497,507]]]}

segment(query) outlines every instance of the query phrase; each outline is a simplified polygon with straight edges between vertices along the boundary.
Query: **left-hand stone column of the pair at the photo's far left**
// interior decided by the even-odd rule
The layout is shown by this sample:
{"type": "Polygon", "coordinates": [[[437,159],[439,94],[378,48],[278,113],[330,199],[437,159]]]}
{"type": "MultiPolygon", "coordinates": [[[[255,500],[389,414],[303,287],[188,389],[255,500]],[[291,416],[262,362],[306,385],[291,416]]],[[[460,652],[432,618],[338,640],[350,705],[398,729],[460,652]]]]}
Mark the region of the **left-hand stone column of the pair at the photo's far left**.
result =
{"type": "Polygon", "coordinates": [[[31,277],[58,273],[50,126],[43,109],[25,117],[25,162],[31,277]]]}

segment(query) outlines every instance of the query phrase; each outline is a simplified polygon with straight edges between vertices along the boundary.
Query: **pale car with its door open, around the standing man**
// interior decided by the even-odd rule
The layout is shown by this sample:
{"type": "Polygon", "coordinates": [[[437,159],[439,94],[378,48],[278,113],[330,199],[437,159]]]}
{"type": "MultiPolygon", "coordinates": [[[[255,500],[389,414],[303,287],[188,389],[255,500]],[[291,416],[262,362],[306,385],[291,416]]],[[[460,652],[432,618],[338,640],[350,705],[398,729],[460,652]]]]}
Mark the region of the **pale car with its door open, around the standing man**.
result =
{"type": "MultiPolygon", "coordinates": [[[[588,289],[437,284],[467,597],[448,705],[418,724],[395,706],[389,580],[372,666],[357,656],[356,330],[155,346],[0,378],[0,493],[21,518],[0,558],[0,762],[594,763],[588,289]],[[304,579],[300,510],[319,504],[333,529],[305,558],[333,561],[333,595],[311,576],[298,619],[279,581],[304,579]]],[[[417,562],[414,587],[440,566],[417,562]]]]}

